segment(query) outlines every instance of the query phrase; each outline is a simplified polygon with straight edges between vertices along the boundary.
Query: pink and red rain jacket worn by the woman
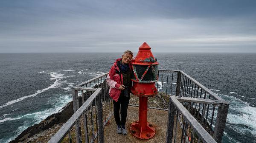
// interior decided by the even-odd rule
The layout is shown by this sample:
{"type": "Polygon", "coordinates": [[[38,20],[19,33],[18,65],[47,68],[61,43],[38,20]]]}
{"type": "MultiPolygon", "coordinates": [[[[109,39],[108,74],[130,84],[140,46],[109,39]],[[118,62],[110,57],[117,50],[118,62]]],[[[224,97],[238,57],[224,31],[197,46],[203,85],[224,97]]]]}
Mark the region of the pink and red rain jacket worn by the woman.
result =
{"type": "MultiPolygon", "coordinates": [[[[122,59],[116,59],[116,62],[118,61],[121,61],[122,59]]],[[[120,76],[118,73],[116,73],[116,71],[119,71],[119,67],[117,66],[117,63],[114,62],[113,66],[111,67],[111,69],[109,70],[109,74],[107,76],[107,84],[110,86],[110,89],[109,89],[109,95],[110,97],[114,100],[114,101],[118,101],[118,98],[121,94],[121,90],[119,90],[119,87],[121,84],[121,80],[120,80],[120,76]]],[[[131,63],[131,62],[130,62],[131,63]]],[[[130,71],[131,71],[131,64],[129,64],[129,67],[130,67],[130,71]]],[[[121,79],[123,81],[123,77],[122,77],[122,74],[121,74],[121,79]]]]}

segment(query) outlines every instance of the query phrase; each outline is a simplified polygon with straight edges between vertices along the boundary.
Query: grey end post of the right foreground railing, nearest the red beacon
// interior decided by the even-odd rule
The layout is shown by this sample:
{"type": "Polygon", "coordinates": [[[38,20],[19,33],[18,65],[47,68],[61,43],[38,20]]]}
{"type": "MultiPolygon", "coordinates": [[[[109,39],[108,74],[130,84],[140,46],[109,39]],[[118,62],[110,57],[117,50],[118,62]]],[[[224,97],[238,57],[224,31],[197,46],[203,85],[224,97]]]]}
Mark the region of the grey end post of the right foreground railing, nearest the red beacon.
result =
{"type": "MultiPolygon", "coordinates": [[[[169,98],[166,143],[172,143],[174,118],[175,118],[175,106],[174,106],[174,103],[172,102],[172,98],[169,98]]],[[[177,120],[177,117],[176,117],[176,120],[177,120]]]]}

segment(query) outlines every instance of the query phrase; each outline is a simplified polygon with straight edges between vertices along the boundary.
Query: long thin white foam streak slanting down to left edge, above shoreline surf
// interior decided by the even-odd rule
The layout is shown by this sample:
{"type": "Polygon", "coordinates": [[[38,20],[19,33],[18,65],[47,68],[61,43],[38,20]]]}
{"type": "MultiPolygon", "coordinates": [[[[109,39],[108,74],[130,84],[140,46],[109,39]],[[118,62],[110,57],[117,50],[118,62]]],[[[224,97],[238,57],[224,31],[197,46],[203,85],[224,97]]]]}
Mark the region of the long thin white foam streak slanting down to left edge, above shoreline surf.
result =
{"type": "Polygon", "coordinates": [[[32,95],[23,96],[23,97],[21,97],[21,98],[18,98],[18,99],[9,101],[9,102],[7,102],[6,104],[0,106],[0,108],[6,107],[6,106],[8,106],[8,105],[15,104],[15,103],[17,103],[17,102],[19,102],[19,101],[22,101],[22,100],[24,100],[24,99],[26,99],[26,98],[29,98],[29,97],[34,97],[34,96],[38,95],[39,93],[43,93],[43,92],[45,92],[45,91],[47,91],[47,90],[49,90],[49,89],[51,89],[51,88],[57,88],[57,87],[59,87],[59,86],[62,84],[59,80],[60,80],[60,79],[57,79],[56,81],[54,81],[53,84],[50,84],[50,86],[47,87],[47,88],[45,88],[45,89],[37,90],[36,93],[34,93],[34,94],[32,94],[32,95]]]}

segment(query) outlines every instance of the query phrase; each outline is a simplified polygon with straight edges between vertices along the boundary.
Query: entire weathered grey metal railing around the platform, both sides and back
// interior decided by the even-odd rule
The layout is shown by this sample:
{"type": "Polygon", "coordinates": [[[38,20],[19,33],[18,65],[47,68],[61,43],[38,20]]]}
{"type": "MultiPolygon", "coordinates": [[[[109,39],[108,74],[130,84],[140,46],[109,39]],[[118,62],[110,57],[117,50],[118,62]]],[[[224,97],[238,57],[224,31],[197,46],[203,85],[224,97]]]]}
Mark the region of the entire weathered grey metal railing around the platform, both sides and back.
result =
{"type": "MultiPolygon", "coordinates": [[[[100,132],[100,129],[103,129],[103,126],[108,123],[108,120],[113,115],[113,102],[109,97],[109,86],[105,81],[107,75],[108,73],[97,76],[73,88],[73,110],[74,113],[79,112],[79,115],[76,113],[75,118],[73,117],[74,114],[70,120],[73,121],[72,126],[75,126],[76,132],[72,130],[72,126],[66,125],[68,124],[67,122],[64,124],[66,126],[63,128],[64,131],[60,131],[62,130],[61,128],[51,140],[57,140],[56,138],[65,139],[63,136],[68,134],[69,137],[66,138],[69,138],[71,143],[73,140],[71,136],[76,134],[77,143],[81,143],[82,140],[85,140],[86,143],[93,143],[96,139],[99,143],[104,142],[104,138],[102,139],[104,136],[99,136],[99,134],[103,133],[103,131],[102,133],[100,132]],[[101,89],[100,94],[95,95],[98,88],[101,89]],[[86,92],[84,93],[84,91],[86,92]],[[80,92],[81,94],[79,94],[80,92]],[[93,101],[89,102],[89,99],[93,101]],[[99,109],[100,107],[101,109],[99,109]],[[102,112],[102,118],[99,112],[102,112]],[[99,124],[101,121],[102,125],[99,124]],[[82,132],[81,130],[84,131],[82,132]],[[82,136],[84,139],[82,139],[82,136]]],[[[148,108],[169,111],[166,142],[170,141],[168,137],[172,132],[172,135],[178,138],[175,133],[177,130],[172,126],[172,120],[175,120],[176,122],[179,121],[183,130],[180,139],[181,143],[184,141],[186,143],[190,142],[191,137],[193,138],[192,142],[214,143],[212,141],[208,142],[211,139],[205,138],[209,138],[209,136],[212,136],[217,143],[221,143],[229,103],[180,70],[158,70],[156,87],[158,94],[148,98],[148,108]],[[177,98],[170,98],[170,95],[176,95],[177,98]],[[177,104],[177,101],[179,104],[177,104]],[[180,105],[182,105],[182,108],[180,105]],[[199,125],[200,127],[195,127],[199,125]],[[201,130],[204,130],[202,131],[204,133],[201,133],[201,130]]],[[[139,98],[137,96],[131,95],[130,98],[130,106],[139,106],[139,98]]],[[[177,123],[175,126],[177,126],[177,123]]]]}

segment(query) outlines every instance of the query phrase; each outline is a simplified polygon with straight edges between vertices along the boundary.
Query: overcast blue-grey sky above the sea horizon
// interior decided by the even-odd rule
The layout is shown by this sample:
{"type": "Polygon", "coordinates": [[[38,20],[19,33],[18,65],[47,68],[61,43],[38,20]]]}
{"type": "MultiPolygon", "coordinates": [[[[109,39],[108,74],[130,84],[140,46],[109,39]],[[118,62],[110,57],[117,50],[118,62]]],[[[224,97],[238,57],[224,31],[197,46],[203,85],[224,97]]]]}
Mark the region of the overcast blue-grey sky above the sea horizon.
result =
{"type": "Polygon", "coordinates": [[[0,53],[256,53],[256,0],[1,0],[0,53]]]}

